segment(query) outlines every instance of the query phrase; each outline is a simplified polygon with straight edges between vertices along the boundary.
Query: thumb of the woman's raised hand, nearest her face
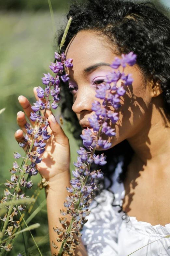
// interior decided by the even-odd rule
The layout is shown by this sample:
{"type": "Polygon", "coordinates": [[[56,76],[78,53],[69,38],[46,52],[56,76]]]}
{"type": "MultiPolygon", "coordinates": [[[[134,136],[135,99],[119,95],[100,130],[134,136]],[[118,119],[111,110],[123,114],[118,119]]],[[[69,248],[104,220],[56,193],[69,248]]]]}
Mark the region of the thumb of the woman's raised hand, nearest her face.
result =
{"type": "Polygon", "coordinates": [[[67,139],[67,136],[65,135],[62,127],[56,121],[55,117],[51,114],[48,120],[49,120],[49,126],[53,132],[55,141],[60,144],[63,144],[63,143],[65,144],[65,140],[67,139]]]}

